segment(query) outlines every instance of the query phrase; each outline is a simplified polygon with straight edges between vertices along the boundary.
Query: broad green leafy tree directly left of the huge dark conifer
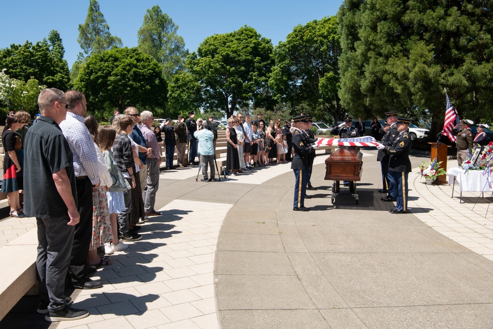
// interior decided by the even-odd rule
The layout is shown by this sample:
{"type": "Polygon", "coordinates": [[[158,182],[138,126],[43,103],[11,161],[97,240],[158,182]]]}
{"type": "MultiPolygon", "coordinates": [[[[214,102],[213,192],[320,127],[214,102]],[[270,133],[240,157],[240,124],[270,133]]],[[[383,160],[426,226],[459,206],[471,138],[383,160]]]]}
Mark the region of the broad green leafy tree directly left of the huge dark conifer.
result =
{"type": "Polygon", "coordinates": [[[339,120],[344,110],[337,91],[341,54],[336,16],[298,25],[274,49],[276,66],[269,85],[276,98],[293,105],[320,107],[339,120]]]}

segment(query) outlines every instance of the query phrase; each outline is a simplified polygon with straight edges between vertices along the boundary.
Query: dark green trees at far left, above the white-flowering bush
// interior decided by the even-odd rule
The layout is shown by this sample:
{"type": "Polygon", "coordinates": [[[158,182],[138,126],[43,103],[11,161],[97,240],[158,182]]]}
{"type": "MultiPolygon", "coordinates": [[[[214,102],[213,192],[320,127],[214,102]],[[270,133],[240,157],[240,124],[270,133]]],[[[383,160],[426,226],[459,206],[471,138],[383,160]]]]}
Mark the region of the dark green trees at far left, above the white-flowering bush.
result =
{"type": "Polygon", "coordinates": [[[64,53],[62,38],[52,30],[48,40],[35,44],[26,41],[23,45],[11,44],[0,49],[0,69],[6,69],[11,78],[27,82],[34,77],[48,88],[67,90],[70,72],[64,53]]]}

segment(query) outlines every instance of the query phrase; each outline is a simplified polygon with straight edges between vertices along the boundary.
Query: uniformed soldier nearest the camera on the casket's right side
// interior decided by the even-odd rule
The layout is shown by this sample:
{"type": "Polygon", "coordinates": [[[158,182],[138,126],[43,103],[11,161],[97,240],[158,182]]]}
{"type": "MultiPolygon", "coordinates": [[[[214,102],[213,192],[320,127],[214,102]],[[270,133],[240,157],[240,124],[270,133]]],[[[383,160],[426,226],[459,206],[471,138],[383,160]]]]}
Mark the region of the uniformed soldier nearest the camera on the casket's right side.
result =
{"type": "Polygon", "coordinates": [[[409,124],[411,120],[398,117],[397,130],[399,135],[394,140],[392,146],[379,144],[378,149],[383,149],[390,155],[388,161],[388,176],[396,184],[397,197],[394,209],[388,211],[392,214],[403,214],[407,212],[408,203],[408,174],[411,171],[411,161],[409,160],[409,151],[411,150],[412,141],[409,135],[409,124]]]}

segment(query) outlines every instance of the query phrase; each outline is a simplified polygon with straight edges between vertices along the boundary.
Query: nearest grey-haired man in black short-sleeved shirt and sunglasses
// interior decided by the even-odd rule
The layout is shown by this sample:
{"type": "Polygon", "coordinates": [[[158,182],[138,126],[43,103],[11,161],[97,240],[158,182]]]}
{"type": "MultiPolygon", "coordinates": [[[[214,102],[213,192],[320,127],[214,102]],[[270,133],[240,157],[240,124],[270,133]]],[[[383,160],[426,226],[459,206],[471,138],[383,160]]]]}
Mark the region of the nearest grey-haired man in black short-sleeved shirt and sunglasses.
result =
{"type": "Polygon", "coordinates": [[[44,89],[38,97],[41,116],[24,141],[24,212],[37,222],[36,268],[40,303],[37,312],[49,322],[82,319],[85,310],[71,308],[65,295],[74,225],[79,222],[72,152],[60,122],[67,101],[58,89],[44,89]]]}

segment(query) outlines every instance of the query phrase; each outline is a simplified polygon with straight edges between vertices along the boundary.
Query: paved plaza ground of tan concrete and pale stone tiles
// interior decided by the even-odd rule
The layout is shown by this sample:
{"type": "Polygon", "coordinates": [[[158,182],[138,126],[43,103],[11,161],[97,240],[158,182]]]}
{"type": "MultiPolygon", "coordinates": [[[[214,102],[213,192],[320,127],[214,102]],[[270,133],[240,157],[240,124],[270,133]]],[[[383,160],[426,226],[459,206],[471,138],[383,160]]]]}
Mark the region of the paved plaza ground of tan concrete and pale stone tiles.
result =
{"type": "MultiPolygon", "coordinates": [[[[195,182],[197,167],[161,174],[163,215],[95,273],[103,288],[72,295],[91,315],[50,327],[492,328],[485,200],[471,211],[479,193],[459,203],[410,173],[412,213],[389,214],[375,152],[363,154],[358,205],[343,188],[330,203],[316,158],[309,213],[291,210],[290,164],[214,183],[195,182]]],[[[34,221],[1,220],[0,242],[23,233],[7,226],[34,221]]]]}

